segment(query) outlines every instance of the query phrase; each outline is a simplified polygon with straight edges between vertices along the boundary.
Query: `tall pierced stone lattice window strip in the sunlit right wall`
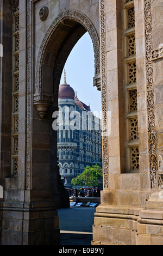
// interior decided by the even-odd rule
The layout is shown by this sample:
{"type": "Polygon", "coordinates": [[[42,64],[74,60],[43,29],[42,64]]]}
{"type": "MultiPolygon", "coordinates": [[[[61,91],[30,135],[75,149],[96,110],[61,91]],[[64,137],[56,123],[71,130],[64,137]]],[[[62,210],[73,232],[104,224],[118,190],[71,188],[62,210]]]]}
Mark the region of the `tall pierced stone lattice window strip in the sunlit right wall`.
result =
{"type": "Polygon", "coordinates": [[[136,40],[134,1],[124,7],[124,88],[126,102],[127,172],[139,172],[137,119],[136,40]]]}

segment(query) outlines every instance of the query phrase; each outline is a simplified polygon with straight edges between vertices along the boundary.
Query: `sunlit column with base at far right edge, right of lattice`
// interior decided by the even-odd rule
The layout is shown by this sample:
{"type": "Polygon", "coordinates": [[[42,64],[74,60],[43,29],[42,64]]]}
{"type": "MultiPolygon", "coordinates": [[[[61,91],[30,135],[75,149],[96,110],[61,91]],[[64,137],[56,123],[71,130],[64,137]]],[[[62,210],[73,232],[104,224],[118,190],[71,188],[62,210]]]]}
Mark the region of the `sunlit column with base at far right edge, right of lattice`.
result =
{"type": "MultiPolygon", "coordinates": [[[[163,22],[162,1],[145,1],[145,22],[146,34],[151,35],[151,39],[146,36],[146,52],[151,57],[147,64],[146,55],[146,75],[147,80],[147,109],[148,109],[148,151],[149,151],[149,168],[151,180],[149,180],[149,191],[151,197],[146,201],[145,208],[141,210],[137,220],[136,245],[163,245],[162,232],[162,209],[163,209],[163,162],[162,162],[162,142],[163,142],[163,22]],[[148,14],[148,15],[147,15],[148,14]],[[151,25],[151,26],[149,26],[151,25]],[[152,44],[152,47],[149,46],[152,44]],[[149,51],[148,51],[148,48],[149,51]],[[151,72],[149,72],[151,68],[151,72]],[[151,78],[151,80],[149,80],[151,78]],[[149,83],[151,81],[152,83],[149,83]],[[152,141],[151,141],[152,131],[152,141]],[[152,153],[152,154],[151,154],[152,153]],[[151,157],[152,156],[152,157],[151,157]],[[156,157],[154,157],[156,156],[156,157]],[[154,179],[154,177],[156,179],[154,179]],[[154,182],[155,181],[155,182],[154,182]]],[[[144,161],[143,161],[144,162],[144,161]]],[[[142,163],[142,166],[145,166],[142,163]]],[[[146,179],[144,179],[146,181],[146,179]]],[[[146,185],[146,182],[144,182],[146,185]]]]}

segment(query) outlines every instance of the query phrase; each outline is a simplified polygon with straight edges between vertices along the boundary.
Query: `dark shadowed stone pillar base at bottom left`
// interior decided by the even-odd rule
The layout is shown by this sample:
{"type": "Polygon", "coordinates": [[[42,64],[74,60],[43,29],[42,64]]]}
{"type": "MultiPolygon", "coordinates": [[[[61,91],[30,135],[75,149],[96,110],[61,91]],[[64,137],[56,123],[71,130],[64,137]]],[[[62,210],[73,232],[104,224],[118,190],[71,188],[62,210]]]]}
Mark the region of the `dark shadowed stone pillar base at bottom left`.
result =
{"type": "Polygon", "coordinates": [[[59,218],[51,203],[1,203],[1,245],[59,245],[59,218]]]}

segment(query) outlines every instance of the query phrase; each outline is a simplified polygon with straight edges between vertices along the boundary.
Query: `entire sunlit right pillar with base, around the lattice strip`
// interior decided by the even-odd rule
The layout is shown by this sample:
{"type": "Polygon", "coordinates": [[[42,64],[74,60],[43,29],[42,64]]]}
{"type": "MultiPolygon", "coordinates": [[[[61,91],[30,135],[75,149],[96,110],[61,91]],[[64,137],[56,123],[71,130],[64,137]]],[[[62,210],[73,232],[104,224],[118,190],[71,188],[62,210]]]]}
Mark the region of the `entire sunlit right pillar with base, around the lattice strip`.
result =
{"type": "Polygon", "coordinates": [[[121,4],[130,8],[133,2],[101,0],[100,4],[101,84],[102,94],[107,95],[103,109],[107,106],[111,111],[112,129],[103,140],[104,191],[95,214],[92,245],[162,245],[162,3],[134,1],[140,150],[137,173],[125,173],[122,131],[121,4]]]}

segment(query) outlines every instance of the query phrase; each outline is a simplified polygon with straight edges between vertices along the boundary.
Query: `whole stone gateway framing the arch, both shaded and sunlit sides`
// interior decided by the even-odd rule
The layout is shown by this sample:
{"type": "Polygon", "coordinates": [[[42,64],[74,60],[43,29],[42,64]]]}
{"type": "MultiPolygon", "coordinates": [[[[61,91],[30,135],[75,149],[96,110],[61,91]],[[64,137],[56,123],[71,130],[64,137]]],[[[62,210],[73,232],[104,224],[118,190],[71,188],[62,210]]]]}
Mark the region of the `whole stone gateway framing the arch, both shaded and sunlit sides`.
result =
{"type": "Polygon", "coordinates": [[[163,245],[162,0],[0,0],[0,15],[1,245],[59,243],[57,209],[69,198],[53,113],[86,32],[103,111],[92,244],[163,245]]]}

